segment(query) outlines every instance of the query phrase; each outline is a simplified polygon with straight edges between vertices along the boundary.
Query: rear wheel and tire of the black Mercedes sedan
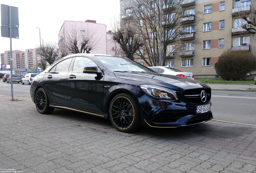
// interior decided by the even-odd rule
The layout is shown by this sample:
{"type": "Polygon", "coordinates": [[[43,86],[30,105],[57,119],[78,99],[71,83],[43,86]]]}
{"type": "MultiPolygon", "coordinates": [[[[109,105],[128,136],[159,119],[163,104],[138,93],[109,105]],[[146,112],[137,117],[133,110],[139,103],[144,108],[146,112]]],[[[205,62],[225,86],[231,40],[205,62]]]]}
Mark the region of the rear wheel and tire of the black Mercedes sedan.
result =
{"type": "Polygon", "coordinates": [[[46,91],[43,88],[39,88],[35,93],[35,107],[41,114],[48,114],[54,111],[54,108],[50,107],[50,101],[46,91]]]}

